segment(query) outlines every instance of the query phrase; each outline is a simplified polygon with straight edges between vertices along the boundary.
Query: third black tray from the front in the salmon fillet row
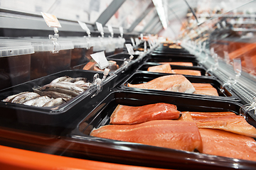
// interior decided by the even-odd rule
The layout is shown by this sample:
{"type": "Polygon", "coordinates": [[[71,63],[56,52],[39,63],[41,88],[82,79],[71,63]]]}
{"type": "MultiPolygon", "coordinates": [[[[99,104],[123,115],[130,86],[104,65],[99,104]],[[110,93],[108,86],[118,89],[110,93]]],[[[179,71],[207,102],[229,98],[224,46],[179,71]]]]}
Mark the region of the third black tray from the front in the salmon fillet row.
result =
{"type": "MultiPolygon", "coordinates": [[[[147,69],[149,67],[154,67],[156,65],[161,65],[158,63],[152,63],[152,62],[146,62],[144,64],[142,64],[137,70],[141,70],[141,71],[147,71],[147,69]]],[[[197,70],[201,72],[202,76],[205,76],[206,74],[206,69],[204,69],[203,67],[189,67],[189,66],[179,66],[179,65],[171,65],[171,69],[189,69],[189,70],[197,70]]],[[[208,73],[208,76],[212,76],[211,74],[208,73]]]]}

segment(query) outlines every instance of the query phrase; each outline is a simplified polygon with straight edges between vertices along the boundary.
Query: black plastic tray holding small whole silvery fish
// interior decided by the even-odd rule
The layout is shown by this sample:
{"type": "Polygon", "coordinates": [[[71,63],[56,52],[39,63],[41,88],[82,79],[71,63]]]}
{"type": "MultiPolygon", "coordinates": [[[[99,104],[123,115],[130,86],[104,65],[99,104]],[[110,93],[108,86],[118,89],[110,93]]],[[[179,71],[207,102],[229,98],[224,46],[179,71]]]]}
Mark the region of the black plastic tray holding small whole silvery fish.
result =
{"type": "MultiPolygon", "coordinates": [[[[98,72],[100,79],[103,74],[98,72]]],[[[85,77],[87,81],[92,82],[95,72],[90,71],[73,71],[67,70],[63,72],[58,72],[55,74],[50,74],[46,77],[41,77],[32,81],[27,81],[23,84],[18,84],[17,86],[12,86],[8,89],[0,91],[0,118],[6,120],[13,120],[15,123],[26,123],[28,125],[48,125],[48,126],[67,126],[67,121],[72,121],[80,115],[81,110],[86,110],[92,103],[92,95],[96,93],[96,87],[92,86],[90,89],[82,92],[78,96],[72,98],[67,103],[63,103],[60,106],[53,107],[36,107],[36,106],[26,106],[18,103],[8,103],[2,101],[7,96],[18,94],[24,91],[33,91],[33,87],[43,86],[49,84],[53,79],[58,77],[85,77]],[[85,103],[88,103],[85,104],[85,103]]],[[[102,91],[100,93],[105,93],[110,88],[110,81],[116,77],[115,75],[108,76],[105,81],[103,81],[102,91]]],[[[100,96],[98,94],[97,96],[100,96]]],[[[96,96],[96,97],[97,97],[96,96]]],[[[95,97],[95,98],[96,98],[95,97]]]]}

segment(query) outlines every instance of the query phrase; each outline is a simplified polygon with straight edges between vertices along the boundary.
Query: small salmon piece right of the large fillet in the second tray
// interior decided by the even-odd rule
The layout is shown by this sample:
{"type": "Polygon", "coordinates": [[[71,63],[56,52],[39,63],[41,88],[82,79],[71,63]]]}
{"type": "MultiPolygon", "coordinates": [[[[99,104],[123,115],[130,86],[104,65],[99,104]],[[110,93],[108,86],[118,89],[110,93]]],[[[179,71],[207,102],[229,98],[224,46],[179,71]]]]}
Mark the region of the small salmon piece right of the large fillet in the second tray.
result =
{"type": "Polygon", "coordinates": [[[211,84],[192,83],[192,85],[196,89],[193,94],[218,96],[217,89],[215,89],[211,84]]]}

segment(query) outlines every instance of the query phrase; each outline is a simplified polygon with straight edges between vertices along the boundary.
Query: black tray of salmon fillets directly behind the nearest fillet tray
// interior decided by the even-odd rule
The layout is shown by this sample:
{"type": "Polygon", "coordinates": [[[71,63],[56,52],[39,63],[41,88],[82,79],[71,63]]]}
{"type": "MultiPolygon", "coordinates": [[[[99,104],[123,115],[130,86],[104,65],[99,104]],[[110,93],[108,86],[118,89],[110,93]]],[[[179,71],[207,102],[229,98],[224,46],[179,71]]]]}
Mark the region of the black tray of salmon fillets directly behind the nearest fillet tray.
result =
{"type": "Polygon", "coordinates": [[[209,83],[211,84],[215,89],[218,91],[219,96],[208,96],[208,95],[200,95],[200,94],[186,94],[186,93],[180,93],[180,92],[174,92],[174,91],[160,91],[160,90],[151,90],[151,89],[139,89],[139,88],[133,88],[128,87],[127,84],[142,84],[146,83],[148,81],[151,81],[152,79],[156,79],[158,77],[171,75],[171,74],[165,74],[165,73],[153,73],[153,72],[144,72],[144,71],[138,71],[134,72],[126,81],[122,82],[120,86],[118,86],[118,89],[125,89],[129,91],[144,91],[148,93],[157,93],[157,94],[172,94],[172,95],[178,95],[178,96],[193,96],[198,98],[209,98],[209,99],[217,99],[217,100],[228,100],[228,101],[241,101],[238,96],[236,96],[228,87],[224,88],[224,91],[221,92],[220,88],[221,85],[220,81],[218,79],[215,79],[214,77],[196,77],[196,76],[188,76],[184,75],[188,81],[191,81],[191,83],[209,83]]]}

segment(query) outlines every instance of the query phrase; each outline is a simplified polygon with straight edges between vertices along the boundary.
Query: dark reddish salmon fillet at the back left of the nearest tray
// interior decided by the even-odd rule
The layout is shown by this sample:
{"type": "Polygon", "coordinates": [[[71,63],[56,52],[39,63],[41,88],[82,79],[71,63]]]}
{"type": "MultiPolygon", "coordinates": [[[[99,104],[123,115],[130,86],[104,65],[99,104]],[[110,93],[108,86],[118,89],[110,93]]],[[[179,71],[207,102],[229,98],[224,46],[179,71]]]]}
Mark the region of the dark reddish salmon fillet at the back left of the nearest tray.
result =
{"type": "Polygon", "coordinates": [[[110,123],[115,125],[132,125],[150,120],[178,119],[181,112],[175,105],[155,103],[145,106],[118,105],[110,116],[110,123]]]}

